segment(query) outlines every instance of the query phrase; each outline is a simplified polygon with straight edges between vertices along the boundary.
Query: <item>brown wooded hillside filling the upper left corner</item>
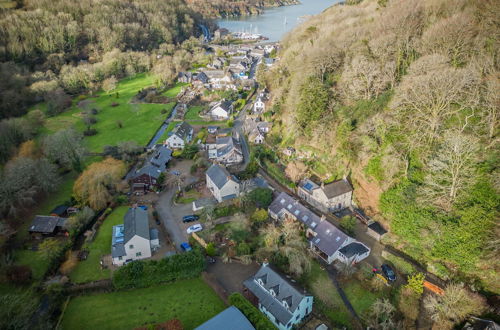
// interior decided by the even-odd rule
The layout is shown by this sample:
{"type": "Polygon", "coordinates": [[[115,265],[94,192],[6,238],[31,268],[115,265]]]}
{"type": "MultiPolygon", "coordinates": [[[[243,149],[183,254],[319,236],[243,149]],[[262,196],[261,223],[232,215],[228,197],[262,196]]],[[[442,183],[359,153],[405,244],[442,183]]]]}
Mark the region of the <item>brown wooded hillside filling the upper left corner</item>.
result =
{"type": "Polygon", "coordinates": [[[170,55],[200,21],[183,0],[26,0],[1,11],[0,119],[59,87],[78,93],[149,70],[152,50],[170,55]]]}

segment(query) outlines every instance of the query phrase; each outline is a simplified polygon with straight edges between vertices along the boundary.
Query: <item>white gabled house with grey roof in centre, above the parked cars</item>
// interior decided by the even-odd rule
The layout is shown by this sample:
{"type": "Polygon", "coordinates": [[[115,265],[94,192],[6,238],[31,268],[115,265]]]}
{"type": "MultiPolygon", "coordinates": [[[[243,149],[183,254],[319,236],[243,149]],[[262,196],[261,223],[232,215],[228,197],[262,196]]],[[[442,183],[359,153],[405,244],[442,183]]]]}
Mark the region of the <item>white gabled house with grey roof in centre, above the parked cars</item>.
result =
{"type": "Polygon", "coordinates": [[[208,189],[219,203],[240,195],[240,181],[220,165],[210,166],[206,179],[208,189]]]}

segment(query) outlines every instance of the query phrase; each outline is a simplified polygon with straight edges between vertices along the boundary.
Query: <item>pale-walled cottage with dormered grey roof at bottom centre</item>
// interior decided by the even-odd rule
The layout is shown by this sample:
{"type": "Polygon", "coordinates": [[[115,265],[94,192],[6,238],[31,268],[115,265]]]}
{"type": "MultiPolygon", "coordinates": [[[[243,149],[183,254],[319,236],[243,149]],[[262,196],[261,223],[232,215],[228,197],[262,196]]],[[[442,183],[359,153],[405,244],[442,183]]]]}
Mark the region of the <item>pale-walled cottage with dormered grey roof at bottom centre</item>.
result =
{"type": "Polygon", "coordinates": [[[280,330],[291,329],[312,312],[313,296],[264,263],[243,282],[244,295],[280,330]]]}

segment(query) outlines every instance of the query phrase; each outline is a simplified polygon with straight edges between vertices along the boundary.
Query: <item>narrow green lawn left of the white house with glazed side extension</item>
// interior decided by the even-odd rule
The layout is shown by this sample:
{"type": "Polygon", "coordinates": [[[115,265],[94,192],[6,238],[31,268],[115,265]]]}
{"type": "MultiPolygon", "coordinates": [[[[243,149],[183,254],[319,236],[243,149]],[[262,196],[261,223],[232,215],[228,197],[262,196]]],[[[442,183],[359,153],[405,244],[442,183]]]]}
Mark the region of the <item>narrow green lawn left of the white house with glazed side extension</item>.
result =
{"type": "Polygon", "coordinates": [[[111,233],[115,225],[123,223],[128,206],[120,206],[104,220],[94,241],[86,246],[89,250],[87,260],[78,263],[71,272],[70,279],[74,283],[86,283],[102,280],[111,276],[109,269],[101,269],[100,260],[103,255],[111,253],[111,233]]]}

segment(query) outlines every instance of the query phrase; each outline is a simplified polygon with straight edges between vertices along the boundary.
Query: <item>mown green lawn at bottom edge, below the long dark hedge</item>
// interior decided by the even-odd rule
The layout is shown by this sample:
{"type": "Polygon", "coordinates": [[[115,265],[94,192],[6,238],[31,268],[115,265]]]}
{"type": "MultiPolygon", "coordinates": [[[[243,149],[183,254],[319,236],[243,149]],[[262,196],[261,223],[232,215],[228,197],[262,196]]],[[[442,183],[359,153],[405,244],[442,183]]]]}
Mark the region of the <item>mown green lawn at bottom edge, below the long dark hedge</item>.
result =
{"type": "Polygon", "coordinates": [[[203,280],[73,298],[62,329],[133,329],[176,318],[193,329],[226,306],[203,280]]]}

